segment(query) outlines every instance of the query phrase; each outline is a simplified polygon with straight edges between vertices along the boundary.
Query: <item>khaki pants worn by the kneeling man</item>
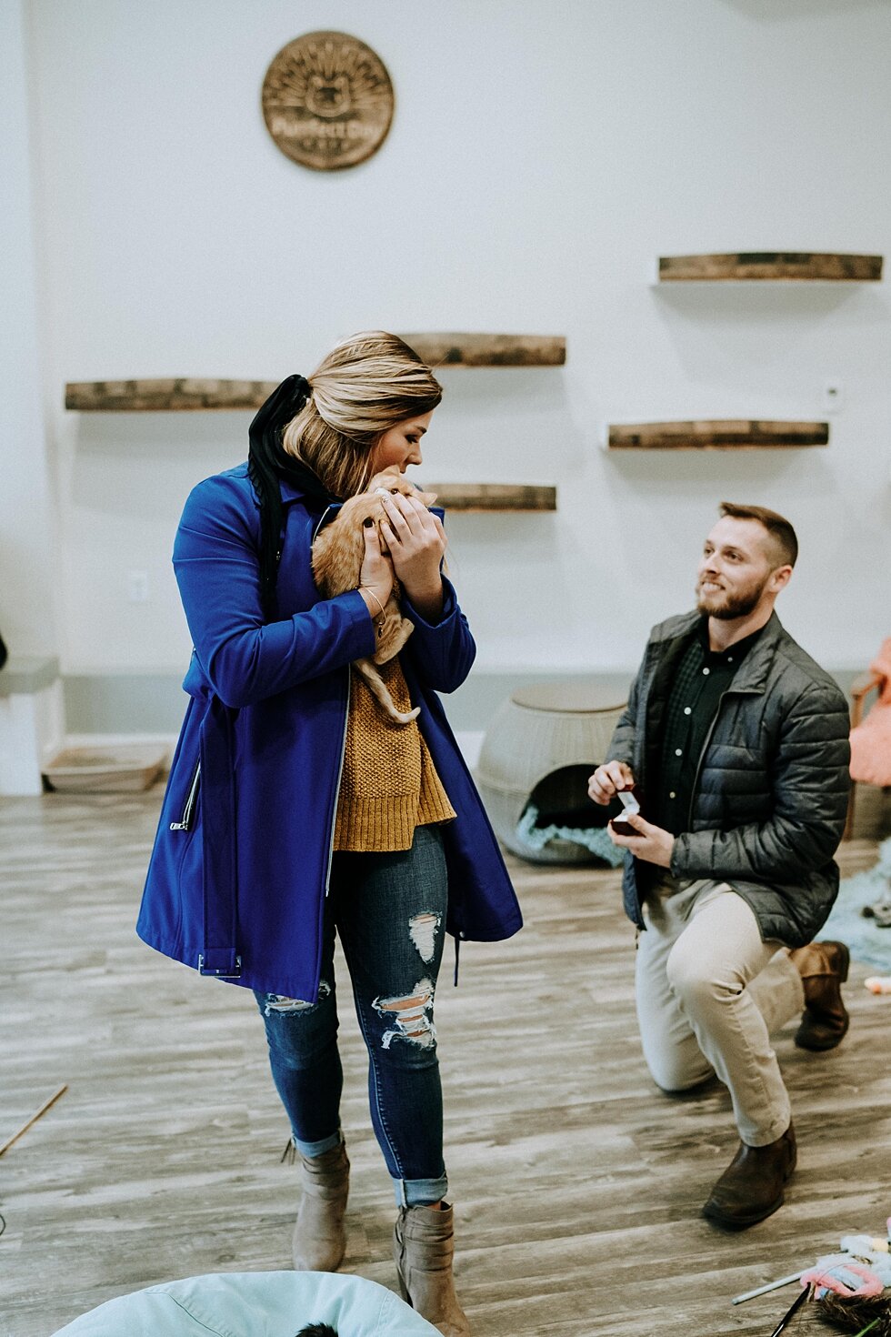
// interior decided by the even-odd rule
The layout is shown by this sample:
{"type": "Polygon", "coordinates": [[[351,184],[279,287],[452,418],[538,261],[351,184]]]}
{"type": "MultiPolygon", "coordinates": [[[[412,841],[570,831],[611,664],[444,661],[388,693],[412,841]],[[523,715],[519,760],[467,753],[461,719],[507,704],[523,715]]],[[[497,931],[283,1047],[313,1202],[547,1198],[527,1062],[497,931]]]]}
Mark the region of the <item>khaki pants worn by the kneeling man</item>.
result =
{"type": "Polygon", "coordinates": [[[753,912],[727,882],[667,874],[644,915],[637,1020],[657,1086],[685,1091],[716,1072],[743,1142],[775,1142],[791,1107],[769,1035],[804,1007],[785,948],[761,940],[753,912]]]}

